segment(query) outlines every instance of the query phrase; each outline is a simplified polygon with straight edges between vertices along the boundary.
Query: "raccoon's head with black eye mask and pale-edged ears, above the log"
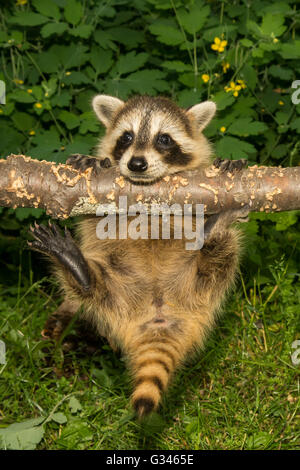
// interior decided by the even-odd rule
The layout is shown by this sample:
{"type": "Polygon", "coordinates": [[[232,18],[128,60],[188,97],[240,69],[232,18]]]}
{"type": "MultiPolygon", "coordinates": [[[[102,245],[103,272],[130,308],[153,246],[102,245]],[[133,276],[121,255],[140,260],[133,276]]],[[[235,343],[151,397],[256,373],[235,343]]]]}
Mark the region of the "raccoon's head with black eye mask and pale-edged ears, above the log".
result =
{"type": "Polygon", "coordinates": [[[211,101],[183,110],[167,98],[137,96],[124,103],[98,95],[93,108],[106,126],[98,156],[118,164],[132,183],[151,184],[210,163],[202,130],[216,111],[211,101]]]}

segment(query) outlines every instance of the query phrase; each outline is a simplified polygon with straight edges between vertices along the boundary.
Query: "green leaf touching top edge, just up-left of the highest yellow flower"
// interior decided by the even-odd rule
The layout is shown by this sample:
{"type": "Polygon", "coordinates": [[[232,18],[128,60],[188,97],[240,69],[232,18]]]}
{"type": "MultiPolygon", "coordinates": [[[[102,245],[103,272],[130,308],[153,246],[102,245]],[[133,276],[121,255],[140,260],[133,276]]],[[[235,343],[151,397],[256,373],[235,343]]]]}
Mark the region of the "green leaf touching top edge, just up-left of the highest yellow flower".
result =
{"type": "Polygon", "coordinates": [[[196,34],[203,28],[209,13],[209,5],[205,5],[201,0],[196,0],[189,7],[189,11],[185,9],[178,10],[179,22],[188,33],[196,34]]]}

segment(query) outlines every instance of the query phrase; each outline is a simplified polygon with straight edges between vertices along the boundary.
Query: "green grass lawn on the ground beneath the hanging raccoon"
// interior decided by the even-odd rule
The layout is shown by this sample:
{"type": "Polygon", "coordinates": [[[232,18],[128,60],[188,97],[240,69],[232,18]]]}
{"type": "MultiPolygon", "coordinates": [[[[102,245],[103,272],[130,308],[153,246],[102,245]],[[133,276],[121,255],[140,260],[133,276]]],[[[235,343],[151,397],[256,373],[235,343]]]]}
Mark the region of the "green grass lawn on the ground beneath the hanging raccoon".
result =
{"type": "Polygon", "coordinates": [[[270,273],[272,282],[254,279],[247,289],[241,278],[205,350],[143,423],[130,408],[124,361],[109,346],[91,355],[42,339],[60,300],[55,286],[46,279],[2,286],[0,432],[43,417],[38,449],[299,449],[300,365],[291,345],[300,285],[283,260],[270,273]]]}

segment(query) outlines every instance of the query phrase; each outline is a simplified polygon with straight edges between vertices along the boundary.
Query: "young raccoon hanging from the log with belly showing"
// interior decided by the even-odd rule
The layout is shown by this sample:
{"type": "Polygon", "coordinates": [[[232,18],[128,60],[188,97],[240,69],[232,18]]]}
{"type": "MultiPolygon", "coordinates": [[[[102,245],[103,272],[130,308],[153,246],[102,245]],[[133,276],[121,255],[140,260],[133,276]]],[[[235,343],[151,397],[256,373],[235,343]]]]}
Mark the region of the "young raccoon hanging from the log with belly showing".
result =
{"type": "MultiPolygon", "coordinates": [[[[153,184],[166,175],[211,164],[202,134],[216,106],[206,101],[184,110],[167,98],[137,96],[123,102],[99,95],[93,108],[106,127],[97,156],[71,156],[77,169],[119,165],[133,184],[153,184]]],[[[215,161],[220,171],[244,161],[215,161]]],[[[172,374],[202,347],[233,285],[240,235],[230,224],[247,215],[227,211],[205,223],[201,250],[187,251],[185,239],[101,240],[99,217],[79,226],[77,244],[54,224],[36,225],[32,249],[47,254],[65,291],[60,312],[80,306],[113,348],[120,348],[133,377],[132,404],[141,417],[157,409],[172,374]]]]}

